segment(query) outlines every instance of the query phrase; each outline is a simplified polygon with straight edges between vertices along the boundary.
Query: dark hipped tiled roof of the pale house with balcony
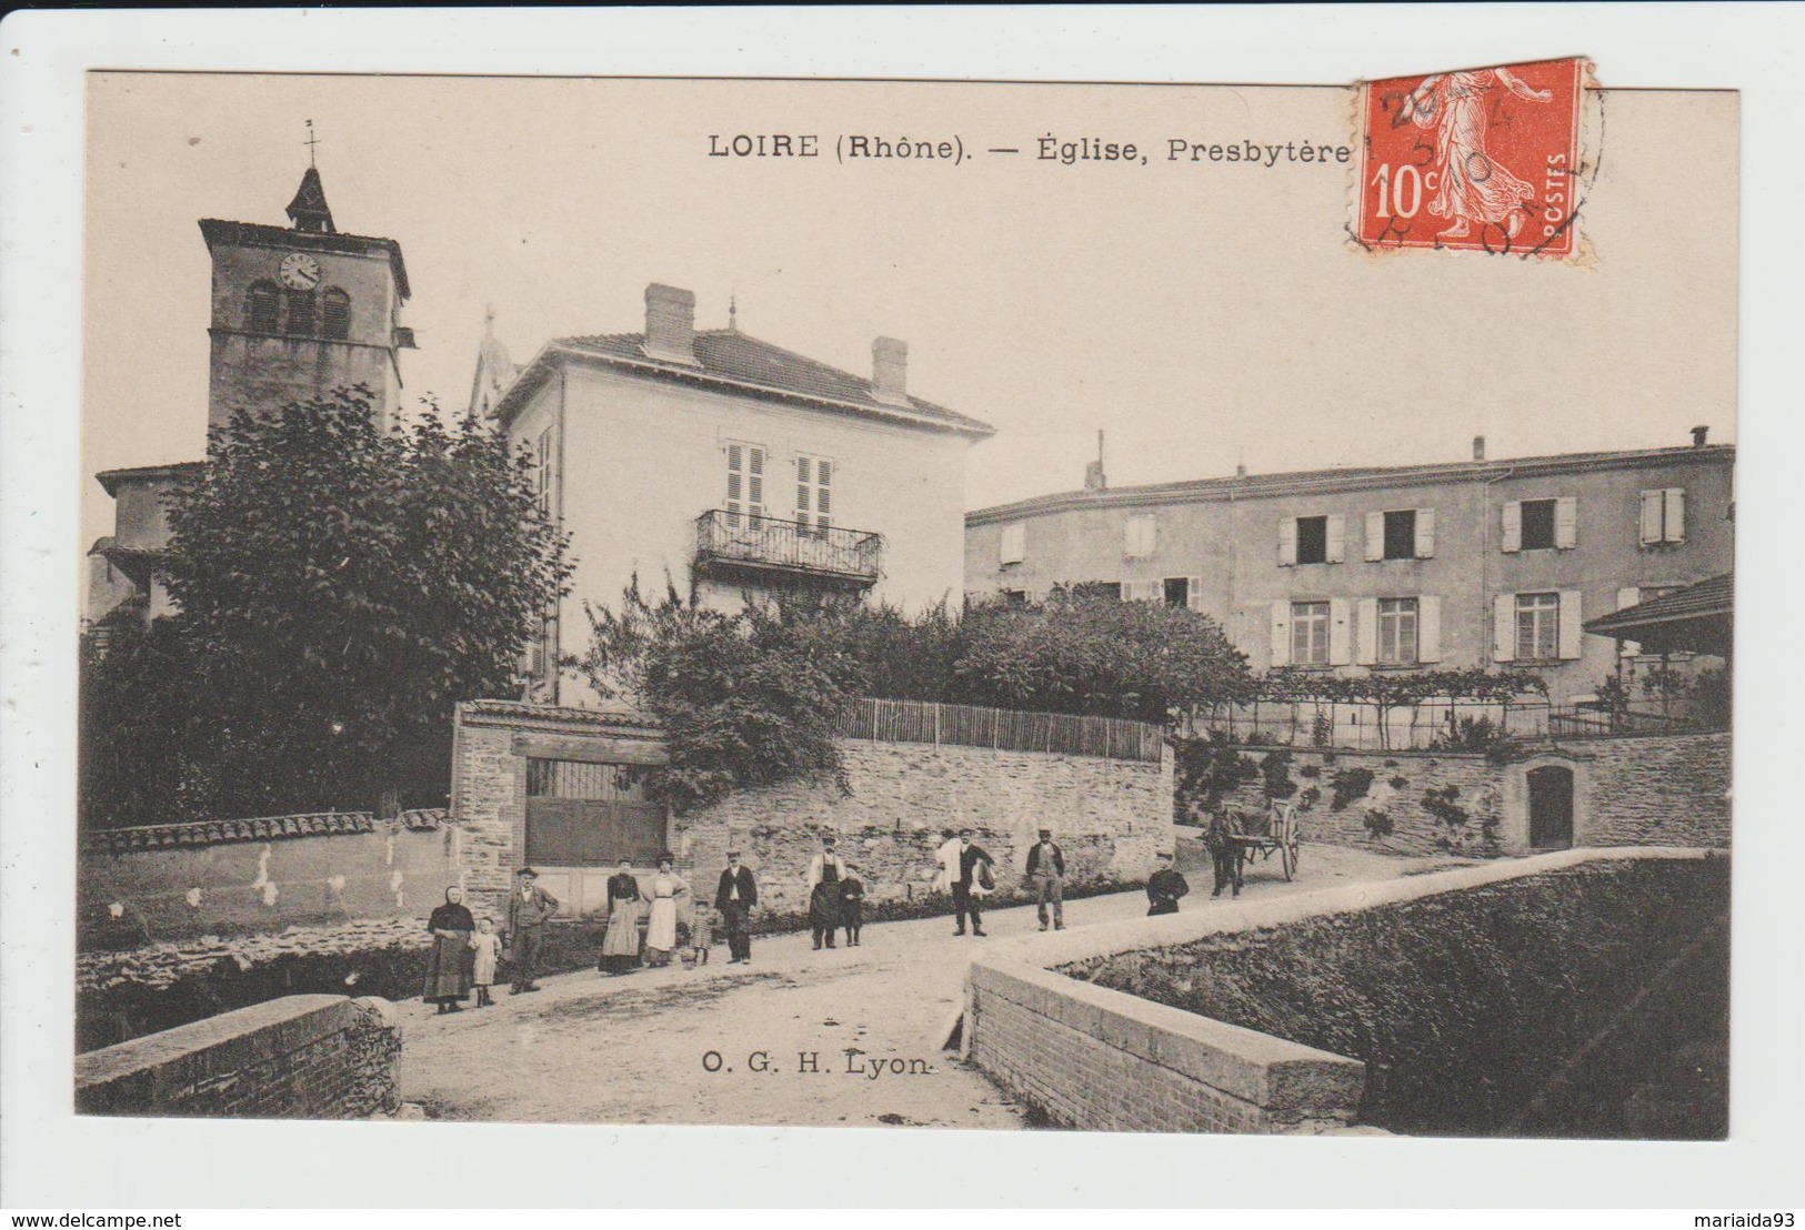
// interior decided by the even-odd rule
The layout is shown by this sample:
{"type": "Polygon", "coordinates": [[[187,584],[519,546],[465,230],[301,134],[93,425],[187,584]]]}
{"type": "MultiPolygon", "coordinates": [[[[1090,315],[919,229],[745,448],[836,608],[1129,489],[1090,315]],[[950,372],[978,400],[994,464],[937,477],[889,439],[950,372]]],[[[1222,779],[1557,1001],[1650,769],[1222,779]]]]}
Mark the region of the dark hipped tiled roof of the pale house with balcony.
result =
{"type": "Polygon", "coordinates": [[[522,379],[496,406],[496,415],[507,417],[538,386],[538,381],[551,372],[554,355],[576,355],[657,372],[673,379],[731,384],[787,400],[825,402],[892,420],[946,427],[975,438],[996,435],[989,424],[921,397],[910,397],[906,406],[881,402],[872,395],[868,379],[773,346],[736,328],[699,330],[695,334],[695,366],[646,355],[644,341],[644,334],[560,337],[527,364],[522,379]]]}

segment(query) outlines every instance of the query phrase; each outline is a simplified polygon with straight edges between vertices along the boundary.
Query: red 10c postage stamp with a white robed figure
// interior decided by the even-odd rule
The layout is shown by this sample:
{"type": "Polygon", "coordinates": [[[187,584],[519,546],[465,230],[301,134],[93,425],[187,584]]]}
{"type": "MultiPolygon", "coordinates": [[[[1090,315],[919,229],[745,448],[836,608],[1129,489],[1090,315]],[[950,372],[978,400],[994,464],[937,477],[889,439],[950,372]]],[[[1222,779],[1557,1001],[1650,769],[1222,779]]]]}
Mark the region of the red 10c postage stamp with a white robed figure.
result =
{"type": "Polygon", "coordinates": [[[1585,61],[1368,81],[1356,238],[1572,256],[1585,61]]]}

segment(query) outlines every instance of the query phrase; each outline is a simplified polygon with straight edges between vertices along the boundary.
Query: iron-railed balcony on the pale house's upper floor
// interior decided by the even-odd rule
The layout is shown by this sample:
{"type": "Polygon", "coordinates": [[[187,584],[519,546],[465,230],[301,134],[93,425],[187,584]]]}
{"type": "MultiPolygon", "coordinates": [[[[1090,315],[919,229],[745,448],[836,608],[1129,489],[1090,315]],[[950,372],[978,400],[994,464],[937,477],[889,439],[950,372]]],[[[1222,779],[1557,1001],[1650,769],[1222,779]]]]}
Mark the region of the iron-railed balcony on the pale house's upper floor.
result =
{"type": "Polygon", "coordinates": [[[695,519],[695,568],[769,583],[778,577],[865,590],[877,583],[884,539],[868,530],[816,528],[711,509],[695,519]]]}

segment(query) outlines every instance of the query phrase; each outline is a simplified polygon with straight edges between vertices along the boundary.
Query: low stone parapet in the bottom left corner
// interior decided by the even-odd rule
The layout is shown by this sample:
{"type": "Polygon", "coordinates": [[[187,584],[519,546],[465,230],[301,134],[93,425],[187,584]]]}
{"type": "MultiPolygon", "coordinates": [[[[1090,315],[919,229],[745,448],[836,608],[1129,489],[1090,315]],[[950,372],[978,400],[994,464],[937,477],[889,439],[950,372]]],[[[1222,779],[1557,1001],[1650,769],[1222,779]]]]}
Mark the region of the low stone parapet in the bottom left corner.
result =
{"type": "Polygon", "coordinates": [[[401,1109],[384,999],[287,996],[76,1057],[79,1115],[366,1118],[401,1109]]]}

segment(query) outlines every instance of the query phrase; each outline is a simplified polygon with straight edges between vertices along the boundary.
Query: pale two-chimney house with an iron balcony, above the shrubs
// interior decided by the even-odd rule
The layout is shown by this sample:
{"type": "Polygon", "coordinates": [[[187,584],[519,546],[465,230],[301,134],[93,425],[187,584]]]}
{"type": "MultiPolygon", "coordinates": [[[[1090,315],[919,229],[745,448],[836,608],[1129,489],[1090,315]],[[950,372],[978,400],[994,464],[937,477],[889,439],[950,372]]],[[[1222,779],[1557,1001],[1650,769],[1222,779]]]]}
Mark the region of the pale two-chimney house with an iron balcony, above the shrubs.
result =
{"type": "Polygon", "coordinates": [[[870,379],[727,328],[695,296],[646,289],[644,332],[563,337],[518,372],[484,341],[471,409],[531,449],[543,507],[570,534],[572,593],[532,655],[532,700],[560,680],[583,604],[616,608],[637,575],[733,608],[787,588],[919,610],[964,584],[964,451],[987,424],[915,397],[908,346],[872,343],[870,379]]]}

